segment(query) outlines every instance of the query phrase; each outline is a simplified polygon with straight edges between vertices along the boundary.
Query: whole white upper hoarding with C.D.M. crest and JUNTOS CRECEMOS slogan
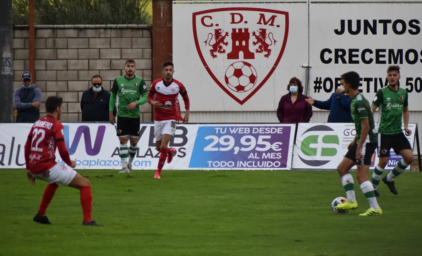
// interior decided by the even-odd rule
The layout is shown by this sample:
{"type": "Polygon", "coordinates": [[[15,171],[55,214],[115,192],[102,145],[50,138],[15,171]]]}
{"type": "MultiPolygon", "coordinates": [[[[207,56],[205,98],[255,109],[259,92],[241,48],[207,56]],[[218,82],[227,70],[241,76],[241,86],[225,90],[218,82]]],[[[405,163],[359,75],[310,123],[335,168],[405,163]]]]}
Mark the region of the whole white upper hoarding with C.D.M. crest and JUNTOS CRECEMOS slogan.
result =
{"type": "Polygon", "coordinates": [[[370,102],[388,85],[387,67],[400,65],[409,110],[422,110],[417,1],[173,1],[172,8],[174,77],[196,111],[274,111],[291,77],[305,85],[308,65],[311,97],[329,99],[341,74],[356,71],[370,102]]]}

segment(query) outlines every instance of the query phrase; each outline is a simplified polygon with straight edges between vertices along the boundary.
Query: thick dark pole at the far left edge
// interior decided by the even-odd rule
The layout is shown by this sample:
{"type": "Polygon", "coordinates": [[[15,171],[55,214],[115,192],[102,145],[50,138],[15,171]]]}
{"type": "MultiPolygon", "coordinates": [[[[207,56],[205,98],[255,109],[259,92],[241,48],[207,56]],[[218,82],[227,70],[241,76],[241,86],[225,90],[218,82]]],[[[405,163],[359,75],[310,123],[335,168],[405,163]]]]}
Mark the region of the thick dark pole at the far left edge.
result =
{"type": "Polygon", "coordinates": [[[0,123],[13,122],[12,0],[0,1],[0,123]]]}

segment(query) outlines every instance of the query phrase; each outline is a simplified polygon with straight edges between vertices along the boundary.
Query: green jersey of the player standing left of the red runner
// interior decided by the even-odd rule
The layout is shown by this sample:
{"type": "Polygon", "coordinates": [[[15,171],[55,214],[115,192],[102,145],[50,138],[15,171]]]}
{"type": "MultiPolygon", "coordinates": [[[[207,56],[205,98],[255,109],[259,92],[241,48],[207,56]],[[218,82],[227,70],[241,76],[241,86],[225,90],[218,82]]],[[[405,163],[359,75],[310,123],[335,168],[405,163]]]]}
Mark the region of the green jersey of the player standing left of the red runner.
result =
{"type": "Polygon", "coordinates": [[[126,76],[119,76],[114,79],[111,87],[111,97],[109,111],[113,111],[116,103],[116,95],[119,96],[117,101],[117,116],[118,117],[140,117],[139,105],[146,103],[148,100],[148,90],[146,89],[145,81],[138,76],[127,79],[126,76]],[[134,109],[127,109],[127,105],[136,101],[138,106],[134,109]],[[111,109],[111,110],[110,110],[111,109]]]}

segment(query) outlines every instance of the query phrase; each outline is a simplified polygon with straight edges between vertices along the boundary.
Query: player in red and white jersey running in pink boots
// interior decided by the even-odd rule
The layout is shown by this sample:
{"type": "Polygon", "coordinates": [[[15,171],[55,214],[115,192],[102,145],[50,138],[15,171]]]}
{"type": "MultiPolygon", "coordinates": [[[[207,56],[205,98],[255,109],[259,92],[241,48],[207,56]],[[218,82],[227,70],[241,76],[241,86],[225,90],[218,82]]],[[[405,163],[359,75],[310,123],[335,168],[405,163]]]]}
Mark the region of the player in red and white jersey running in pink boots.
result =
{"type": "Polygon", "coordinates": [[[158,168],[154,178],[160,179],[161,169],[165,159],[167,163],[176,155],[175,148],[168,148],[171,136],[176,132],[176,123],[189,121],[189,97],[184,85],[173,79],[174,65],[171,61],[162,64],[162,78],[154,80],[148,93],[148,102],[154,106],[154,135],[157,150],[161,152],[158,160],[158,168]],[[178,96],[183,98],[186,114],[180,115],[178,96]]]}

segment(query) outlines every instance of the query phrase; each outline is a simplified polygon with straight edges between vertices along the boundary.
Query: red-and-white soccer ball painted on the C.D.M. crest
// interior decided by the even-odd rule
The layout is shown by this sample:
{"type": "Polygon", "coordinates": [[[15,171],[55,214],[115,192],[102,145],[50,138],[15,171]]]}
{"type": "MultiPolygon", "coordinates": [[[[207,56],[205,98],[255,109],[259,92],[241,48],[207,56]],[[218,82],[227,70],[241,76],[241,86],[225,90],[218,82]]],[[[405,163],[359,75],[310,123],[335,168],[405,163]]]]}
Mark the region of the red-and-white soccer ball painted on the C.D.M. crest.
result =
{"type": "Polygon", "coordinates": [[[224,80],[231,90],[244,93],[257,82],[257,71],[250,63],[238,61],[227,68],[224,80]]]}

